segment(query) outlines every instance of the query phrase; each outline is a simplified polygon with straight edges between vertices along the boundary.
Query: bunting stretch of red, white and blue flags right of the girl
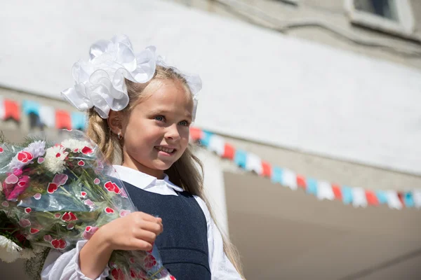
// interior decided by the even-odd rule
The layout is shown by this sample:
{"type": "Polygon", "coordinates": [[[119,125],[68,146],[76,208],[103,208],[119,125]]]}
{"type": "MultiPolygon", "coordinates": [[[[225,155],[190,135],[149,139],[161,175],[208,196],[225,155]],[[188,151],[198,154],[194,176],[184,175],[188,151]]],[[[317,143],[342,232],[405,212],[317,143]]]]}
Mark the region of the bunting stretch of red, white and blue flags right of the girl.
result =
{"type": "Polygon", "coordinates": [[[421,190],[399,192],[396,190],[366,190],[340,186],[337,183],[306,178],[296,174],[290,169],[272,166],[254,153],[248,153],[234,148],[223,137],[212,132],[192,127],[190,130],[192,141],[199,143],[220,158],[232,160],[237,166],[248,172],[269,178],[272,183],[279,183],[291,190],[301,188],[309,195],[316,196],[319,200],[340,200],[344,204],[354,207],[379,206],[386,204],[391,209],[403,207],[421,208],[421,190]]]}

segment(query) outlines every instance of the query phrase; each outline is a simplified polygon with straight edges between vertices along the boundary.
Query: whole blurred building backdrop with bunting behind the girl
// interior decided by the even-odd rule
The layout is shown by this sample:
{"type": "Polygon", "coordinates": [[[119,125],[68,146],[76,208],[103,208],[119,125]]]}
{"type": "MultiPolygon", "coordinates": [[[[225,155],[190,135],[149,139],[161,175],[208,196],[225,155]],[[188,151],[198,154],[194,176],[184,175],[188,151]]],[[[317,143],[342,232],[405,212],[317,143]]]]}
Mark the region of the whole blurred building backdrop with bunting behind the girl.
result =
{"type": "Polygon", "coordinates": [[[126,34],[201,75],[192,141],[247,279],[421,279],[421,1],[0,3],[10,141],[83,130],[72,64],[126,34]]]}

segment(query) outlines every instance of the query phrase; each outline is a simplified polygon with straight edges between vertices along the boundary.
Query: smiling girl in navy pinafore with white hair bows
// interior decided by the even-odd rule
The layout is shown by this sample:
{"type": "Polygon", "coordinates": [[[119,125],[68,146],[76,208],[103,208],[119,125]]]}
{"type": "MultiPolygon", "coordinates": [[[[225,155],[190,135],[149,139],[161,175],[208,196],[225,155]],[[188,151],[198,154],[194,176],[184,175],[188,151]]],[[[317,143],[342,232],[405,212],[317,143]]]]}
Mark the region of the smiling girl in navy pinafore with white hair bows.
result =
{"type": "Polygon", "coordinates": [[[90,55],[74,64],[76,83],[62,95],[88,110],[88,137],[116,164],[114,176],[139,212],[104,225],[72,251],[51,250],[41,279],[105,279],[112,251],[147,251],[153,244],[178,280],[242,279],[189,147],[199,77],[166,66],[153,47],[135,55],[126,36],[98,41],[90,55]]]}

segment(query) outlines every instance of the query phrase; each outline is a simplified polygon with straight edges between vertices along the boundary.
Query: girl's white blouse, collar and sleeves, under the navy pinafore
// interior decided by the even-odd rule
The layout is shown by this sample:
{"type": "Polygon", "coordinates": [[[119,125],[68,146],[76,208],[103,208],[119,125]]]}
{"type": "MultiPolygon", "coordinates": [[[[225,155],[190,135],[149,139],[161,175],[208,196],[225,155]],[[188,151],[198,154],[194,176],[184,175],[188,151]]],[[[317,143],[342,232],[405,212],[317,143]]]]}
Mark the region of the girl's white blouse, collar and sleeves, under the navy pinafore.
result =
{"type": "MultiPolygon", "coordinates": [[[[112,175],[142,190],[160,195],[178,195],[175,190],[182,192],[182,188],[171,183],[168,176],[160,180],[121,165],[114,165],[114,169],[115,174],[112,175]]],[[[206,203],[200,197],[194,196],[194,198],[205,214],[208,225],[209,267],[212,280],[241,280],[241,276],[224,253],[220,231],[210,217],[206,203]]],[[[79,267],[79,252],[84,244],[86,241],[78,241],[76,248],[65,253],[51,250],[44,263],[41,280],[91,280],[83,275],[79,267]]],[[[108,275],[109,267],[105,267],[104,272],[95,280],[105,279],[108,275]]]]}

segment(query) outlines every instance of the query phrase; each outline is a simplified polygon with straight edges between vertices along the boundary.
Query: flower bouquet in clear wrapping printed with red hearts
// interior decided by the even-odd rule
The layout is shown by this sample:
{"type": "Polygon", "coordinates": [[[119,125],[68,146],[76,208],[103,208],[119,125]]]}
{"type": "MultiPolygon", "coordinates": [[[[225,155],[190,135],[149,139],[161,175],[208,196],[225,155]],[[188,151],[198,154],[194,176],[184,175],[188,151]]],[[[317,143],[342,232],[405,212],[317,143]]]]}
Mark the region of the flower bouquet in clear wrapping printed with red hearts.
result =
{"type": "MultiPolygon", "coordinates": [[[[102,225],[137,211],[123,183],[82,132],[59,144],[0,144],[0,259],[31,258],[44,248],[67,251],[102,225]]],[[[159,252],[114,251],[111,279],[175,279],[159,252]]]]}

